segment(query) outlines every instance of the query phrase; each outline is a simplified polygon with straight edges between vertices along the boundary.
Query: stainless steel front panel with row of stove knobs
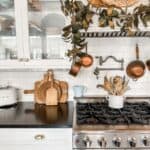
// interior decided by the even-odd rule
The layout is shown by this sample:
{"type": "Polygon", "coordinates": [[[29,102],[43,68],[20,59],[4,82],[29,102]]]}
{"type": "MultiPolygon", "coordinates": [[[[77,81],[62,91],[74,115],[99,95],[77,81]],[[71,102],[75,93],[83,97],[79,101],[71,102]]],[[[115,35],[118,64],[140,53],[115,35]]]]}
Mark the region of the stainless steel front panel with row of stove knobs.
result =
{"type": "Polygon", "coordinates": [[[149,133],[78,133],[73,135],[74,149],[150,149],[149,133]]]}

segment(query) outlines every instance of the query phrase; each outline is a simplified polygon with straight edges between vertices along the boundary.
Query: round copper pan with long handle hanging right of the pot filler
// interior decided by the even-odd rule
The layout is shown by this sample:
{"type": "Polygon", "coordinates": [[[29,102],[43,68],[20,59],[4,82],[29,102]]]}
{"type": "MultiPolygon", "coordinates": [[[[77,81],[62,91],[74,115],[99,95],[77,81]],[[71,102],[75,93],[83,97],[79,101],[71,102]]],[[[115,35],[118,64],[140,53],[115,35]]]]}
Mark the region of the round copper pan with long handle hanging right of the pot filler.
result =
{"type": "Polygon", "coordinates": [[[126,69],[127,75],[133,80],[137,80],[142,77],[145,73],[145,64],[139,60],[139,47],[136,44],[136,60],[130,62],[126,69]]]}

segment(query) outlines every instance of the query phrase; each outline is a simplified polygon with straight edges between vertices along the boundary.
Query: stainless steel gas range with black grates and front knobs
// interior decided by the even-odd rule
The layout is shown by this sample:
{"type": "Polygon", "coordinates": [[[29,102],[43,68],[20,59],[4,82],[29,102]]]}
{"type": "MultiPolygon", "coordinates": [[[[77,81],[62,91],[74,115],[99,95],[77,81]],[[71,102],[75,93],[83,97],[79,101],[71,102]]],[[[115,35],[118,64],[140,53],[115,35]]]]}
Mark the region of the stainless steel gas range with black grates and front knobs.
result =
{"type": "Polygon", "coordinates": [[[73,149],[150,150],[150,97],[127,98],[119,110],[105,98],[76,99],[73,149]]]}

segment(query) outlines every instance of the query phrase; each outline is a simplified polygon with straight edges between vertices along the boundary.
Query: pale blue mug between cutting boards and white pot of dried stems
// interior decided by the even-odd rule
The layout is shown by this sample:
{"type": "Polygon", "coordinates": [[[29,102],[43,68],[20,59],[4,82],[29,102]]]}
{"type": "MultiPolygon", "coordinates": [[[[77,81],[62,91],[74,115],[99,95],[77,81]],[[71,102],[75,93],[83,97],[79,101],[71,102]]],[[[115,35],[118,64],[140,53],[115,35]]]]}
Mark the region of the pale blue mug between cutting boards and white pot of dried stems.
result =
{"type": "Polygon", "coordinates": [[[84,92],[87,91],[87,88],[83,85],[75,85],[73,86],[74,96],[75,97],[82,97],[84,92]]]}

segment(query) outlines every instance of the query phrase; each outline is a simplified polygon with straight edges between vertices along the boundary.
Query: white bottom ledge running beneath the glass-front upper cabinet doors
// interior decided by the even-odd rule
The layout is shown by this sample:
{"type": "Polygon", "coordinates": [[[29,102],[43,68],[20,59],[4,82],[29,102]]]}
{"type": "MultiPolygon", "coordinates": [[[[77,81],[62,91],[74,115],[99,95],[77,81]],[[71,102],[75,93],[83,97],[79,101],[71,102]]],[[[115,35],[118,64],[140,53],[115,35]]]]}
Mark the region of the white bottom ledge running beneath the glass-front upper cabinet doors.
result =
{"type": "Polygon", "coordinates": [[[47,69],[68,70],[71,63],[66,59],[30,60],[20,62],[18,60],[0,60],[0,71],[43,71],[47,69]]]}

